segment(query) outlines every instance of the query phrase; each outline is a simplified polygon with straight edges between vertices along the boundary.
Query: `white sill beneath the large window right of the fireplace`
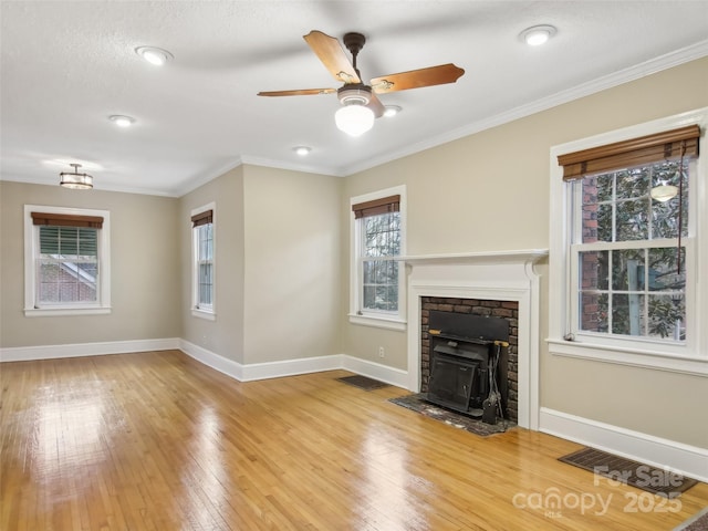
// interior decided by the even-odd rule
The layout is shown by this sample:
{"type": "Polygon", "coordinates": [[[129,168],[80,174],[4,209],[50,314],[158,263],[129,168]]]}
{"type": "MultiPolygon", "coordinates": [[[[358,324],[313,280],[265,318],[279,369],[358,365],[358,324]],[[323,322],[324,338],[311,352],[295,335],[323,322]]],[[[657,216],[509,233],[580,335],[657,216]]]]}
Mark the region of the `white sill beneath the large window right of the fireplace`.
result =
{"type": "Polygon", "coordinates": [[[708,377],[708,357],[548,339],[552,355],[708,377]]]}

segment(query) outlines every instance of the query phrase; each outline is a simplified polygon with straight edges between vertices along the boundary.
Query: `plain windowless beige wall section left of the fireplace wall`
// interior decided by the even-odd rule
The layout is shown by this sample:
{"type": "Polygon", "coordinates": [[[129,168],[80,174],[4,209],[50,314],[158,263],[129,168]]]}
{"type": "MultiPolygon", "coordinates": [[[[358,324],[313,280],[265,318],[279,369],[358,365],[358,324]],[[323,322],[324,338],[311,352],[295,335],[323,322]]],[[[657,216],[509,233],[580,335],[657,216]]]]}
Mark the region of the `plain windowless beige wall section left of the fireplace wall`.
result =
{"type": "Polygon", "coordinates": [[[341,353],[343,179],[244,168],[244,363],[341,353]]]}

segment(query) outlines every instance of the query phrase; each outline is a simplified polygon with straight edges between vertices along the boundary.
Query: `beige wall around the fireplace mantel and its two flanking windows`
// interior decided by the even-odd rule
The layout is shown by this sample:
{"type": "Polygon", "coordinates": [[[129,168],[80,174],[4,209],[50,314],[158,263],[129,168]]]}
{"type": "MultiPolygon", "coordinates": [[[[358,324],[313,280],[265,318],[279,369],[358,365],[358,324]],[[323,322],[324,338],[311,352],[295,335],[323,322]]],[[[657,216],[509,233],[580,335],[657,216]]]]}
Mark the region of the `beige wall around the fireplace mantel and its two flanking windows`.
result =
{"type": "MultiPolygon", "coordinates": [[[[342,220],[348,223],[350,197],[405,184],[409,254],[548,248],[549,223],[560,221],[548,215],[551,146],[706,105],[702,59],[347,177],[342,220]]],[[[348,230],[342,237],[348,263],[348,230]]],[[[554,282],[542,281],[542,340],[554,282]]],[[[374,353],[384,342],[406,348],[405,334],[351,325],[345,304],[341,314],[347,354],[378,362],[374,353]]],[[[695,421],[705,418],[707,378],[560,358],[543,341],[540,350],[542,406],[707,446],[708,428],[695,421]]],[[[400,368],[403,355],[385,363],[400,368]]]]}

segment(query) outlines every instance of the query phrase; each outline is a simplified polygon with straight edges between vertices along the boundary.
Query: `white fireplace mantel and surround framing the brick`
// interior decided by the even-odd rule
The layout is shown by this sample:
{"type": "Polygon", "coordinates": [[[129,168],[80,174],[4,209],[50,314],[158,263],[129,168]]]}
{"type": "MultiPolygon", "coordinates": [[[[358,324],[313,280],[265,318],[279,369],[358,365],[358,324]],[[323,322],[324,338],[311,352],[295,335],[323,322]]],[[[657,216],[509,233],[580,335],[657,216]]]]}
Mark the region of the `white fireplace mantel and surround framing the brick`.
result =
{"type": "Polygon", "coordinates": [[[408,274],[408,388],[420,391],[420,298],[516,301],[519,304],[519,420],[539,429],[539,275],[548,249],[402,257],[408,274]]]}

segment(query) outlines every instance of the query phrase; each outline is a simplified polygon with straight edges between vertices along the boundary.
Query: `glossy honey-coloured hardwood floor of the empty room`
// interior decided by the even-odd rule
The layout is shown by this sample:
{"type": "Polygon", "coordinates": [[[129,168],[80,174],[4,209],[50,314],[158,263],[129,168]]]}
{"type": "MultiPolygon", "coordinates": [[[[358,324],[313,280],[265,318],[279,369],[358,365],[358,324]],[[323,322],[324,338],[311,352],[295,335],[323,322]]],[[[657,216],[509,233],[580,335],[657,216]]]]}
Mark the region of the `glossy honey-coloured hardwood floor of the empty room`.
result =
{"type": "Polygon", "coordinates": [[[594,481],[556,460],[580,445],[478,437],[388,402],[404,389],[337,382],[344,371],[239,383],[166,351],[0,374],[8,531],[647,531],[708,506],[708,485],[667,502],[594,481]]]}

